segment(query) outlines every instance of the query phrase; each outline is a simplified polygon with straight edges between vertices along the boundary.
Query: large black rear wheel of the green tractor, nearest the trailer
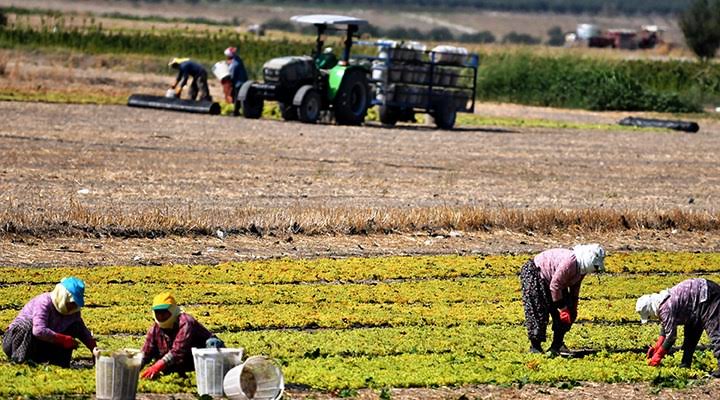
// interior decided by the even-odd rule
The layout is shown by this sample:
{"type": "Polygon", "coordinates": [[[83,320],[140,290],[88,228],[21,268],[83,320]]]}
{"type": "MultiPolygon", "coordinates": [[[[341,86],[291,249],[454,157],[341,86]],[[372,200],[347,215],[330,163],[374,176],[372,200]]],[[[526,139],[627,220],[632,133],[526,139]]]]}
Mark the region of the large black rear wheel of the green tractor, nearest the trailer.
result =
{"type": "Polygon", "coordinates": [[[347,71],[335,95],[335,121],[340,125],[360,125],[368,108],[367,76],[362,70],[347,71]]]}

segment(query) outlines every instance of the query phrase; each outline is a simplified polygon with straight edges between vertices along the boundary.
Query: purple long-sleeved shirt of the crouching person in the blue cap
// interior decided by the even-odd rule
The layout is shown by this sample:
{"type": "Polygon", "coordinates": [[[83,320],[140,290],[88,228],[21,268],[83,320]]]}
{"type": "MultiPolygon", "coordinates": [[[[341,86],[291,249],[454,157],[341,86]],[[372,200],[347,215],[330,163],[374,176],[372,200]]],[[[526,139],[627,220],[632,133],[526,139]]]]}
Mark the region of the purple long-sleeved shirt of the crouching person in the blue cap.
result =
{"type": "Polygon", "coordinates": [[[80,311],[69,315],[60,314],[52,303],[50,293],[43,293],[32,298],[20,310],[20,314],[10,326],[12,327],[21,320],[32,321],[33,336],[45,342],[52,342],[58,333],[67,334],[70,326],[78,323],[79,329],[75,332],[79,335],[76,336],[76,339],[83,342],[89,349],[95,347],[95,339],[85,326],[80,311]]]}

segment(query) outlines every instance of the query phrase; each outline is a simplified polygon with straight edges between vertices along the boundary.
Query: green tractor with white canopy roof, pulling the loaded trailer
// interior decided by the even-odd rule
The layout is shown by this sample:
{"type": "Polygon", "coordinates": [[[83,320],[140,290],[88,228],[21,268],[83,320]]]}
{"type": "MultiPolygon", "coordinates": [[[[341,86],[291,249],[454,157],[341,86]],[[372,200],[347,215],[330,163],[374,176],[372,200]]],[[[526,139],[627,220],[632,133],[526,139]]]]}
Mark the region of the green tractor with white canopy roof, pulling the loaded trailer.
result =
{"type": "Polygon", "coordinates": [[[340,125],[360,125],[371,104],[369,69],[350,63],[353,37],[363,19],[338,15],[303,15],[291,18],[314,25],[317,39],[312,57],[280,57],[263,66],[263,82],[247,81],[238,92],[236,106],[245,118],[262,116],[265,100],[277,101],[285,120],[315,123],[321,113],[332,112],[340,125]],[[344,34],[340,59],[323,52],[324,36],[336,31],[344,34]]]}

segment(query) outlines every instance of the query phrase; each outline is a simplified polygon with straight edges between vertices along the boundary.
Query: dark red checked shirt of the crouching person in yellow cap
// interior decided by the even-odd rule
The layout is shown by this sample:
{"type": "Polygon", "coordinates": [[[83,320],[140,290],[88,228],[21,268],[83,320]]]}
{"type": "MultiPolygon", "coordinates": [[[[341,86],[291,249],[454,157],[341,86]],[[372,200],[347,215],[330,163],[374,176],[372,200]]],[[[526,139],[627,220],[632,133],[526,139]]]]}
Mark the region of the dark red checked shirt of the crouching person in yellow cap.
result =
{"type": "Polygon", "coordinates": [[[143,365],[150,360],[163,359],[176,371],[193,371],[192,348],[205,348],[205,341],[212,333],[195,318],[181,313],[173,329],[162,329],[155,323],[148,330],[143,345],[143,365]]]}

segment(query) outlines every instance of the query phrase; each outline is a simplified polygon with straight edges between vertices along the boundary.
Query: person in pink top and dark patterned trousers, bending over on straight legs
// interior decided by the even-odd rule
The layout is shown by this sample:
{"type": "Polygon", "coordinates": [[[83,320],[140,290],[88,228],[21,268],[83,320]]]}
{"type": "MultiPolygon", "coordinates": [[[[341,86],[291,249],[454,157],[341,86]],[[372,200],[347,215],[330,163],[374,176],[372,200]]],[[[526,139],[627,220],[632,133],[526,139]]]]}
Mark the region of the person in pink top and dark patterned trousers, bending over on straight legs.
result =
{"type": "Polygon", "coordinates": [[[520,284],[531,353],[542,353],[551,315],[553,341],[549,351],[567,351],[564,339],[577,318],[580,284],[585,275],[604,270],[605,249],[599,244],[545,250],[522,266],[520,284]]]}

